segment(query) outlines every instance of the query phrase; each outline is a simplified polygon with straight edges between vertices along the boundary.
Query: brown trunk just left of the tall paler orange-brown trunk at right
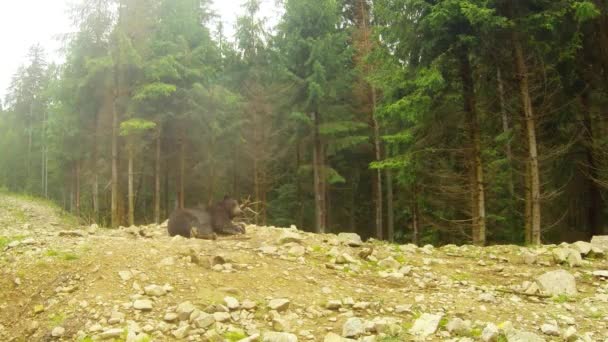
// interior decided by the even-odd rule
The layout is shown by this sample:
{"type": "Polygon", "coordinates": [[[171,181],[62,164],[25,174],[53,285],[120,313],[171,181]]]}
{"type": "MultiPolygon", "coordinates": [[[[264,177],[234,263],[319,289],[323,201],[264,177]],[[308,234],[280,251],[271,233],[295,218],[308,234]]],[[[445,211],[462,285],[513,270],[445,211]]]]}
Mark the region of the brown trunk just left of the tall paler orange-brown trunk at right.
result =
{"type": "Polygon", "coordinates": [[[479,130],[479,119],[477,115],[475,85],[468,53],[468,49],[462,49],[460,62],[464,111],[467,117],[469,138],[471,140],[471,216],[473,219],[473,244],[483,246],[486,243],[486,210],[485,189],[483,183],[483,163],[481,160],[481,133],[479,130]]]}

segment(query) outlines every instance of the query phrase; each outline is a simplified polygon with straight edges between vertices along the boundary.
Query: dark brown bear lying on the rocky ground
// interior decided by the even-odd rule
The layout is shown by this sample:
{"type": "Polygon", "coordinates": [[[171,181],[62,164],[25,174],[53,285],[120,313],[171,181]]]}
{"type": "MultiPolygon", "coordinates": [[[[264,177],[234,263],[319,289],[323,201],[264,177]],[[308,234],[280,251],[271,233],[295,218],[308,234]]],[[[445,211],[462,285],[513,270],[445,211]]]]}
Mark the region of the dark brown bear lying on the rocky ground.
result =
{"type": "Polygon", "coordinates": [[[245,234],[245,229],[232,222],[241,214],[235,199],[228,196],[211,207],[176,209],[169,217],[169,236],[181,235],[198,239],[216,239],[220,235],[245,234]]]}

